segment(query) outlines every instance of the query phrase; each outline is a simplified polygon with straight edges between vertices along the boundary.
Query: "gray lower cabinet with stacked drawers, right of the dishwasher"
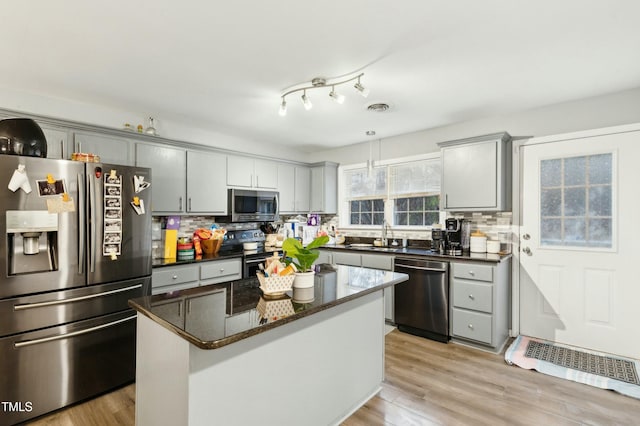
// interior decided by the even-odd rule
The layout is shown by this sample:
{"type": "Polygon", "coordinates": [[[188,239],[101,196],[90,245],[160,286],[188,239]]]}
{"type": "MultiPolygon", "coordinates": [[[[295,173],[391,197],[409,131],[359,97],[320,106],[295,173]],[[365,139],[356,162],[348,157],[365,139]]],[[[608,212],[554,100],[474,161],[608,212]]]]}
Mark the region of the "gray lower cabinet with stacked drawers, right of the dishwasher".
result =
{"type": "Polygon", "coordinates": [[[510,264],[451,262],[451,337],[499,352],[509,337],[510,264]]]}

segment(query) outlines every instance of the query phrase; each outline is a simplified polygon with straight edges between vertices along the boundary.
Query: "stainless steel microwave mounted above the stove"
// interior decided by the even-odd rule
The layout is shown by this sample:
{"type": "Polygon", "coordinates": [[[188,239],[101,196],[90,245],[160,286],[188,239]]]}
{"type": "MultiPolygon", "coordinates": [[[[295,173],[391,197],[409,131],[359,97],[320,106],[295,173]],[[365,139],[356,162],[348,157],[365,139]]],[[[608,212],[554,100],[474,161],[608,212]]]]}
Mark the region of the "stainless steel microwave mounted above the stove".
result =
{"type": "Polygon", "coordinates": [[[278,193],[250,189],[229,189],[229,214],[233,222],[278,220],[278,193]]]}

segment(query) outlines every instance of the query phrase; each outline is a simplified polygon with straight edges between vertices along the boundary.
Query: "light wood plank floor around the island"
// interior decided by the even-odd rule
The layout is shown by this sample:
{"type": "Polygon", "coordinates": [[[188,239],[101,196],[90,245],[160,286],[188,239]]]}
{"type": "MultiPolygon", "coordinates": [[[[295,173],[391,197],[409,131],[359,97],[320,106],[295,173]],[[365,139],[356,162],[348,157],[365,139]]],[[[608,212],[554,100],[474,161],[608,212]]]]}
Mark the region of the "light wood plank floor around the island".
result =
{"type": "MultiPolygon", "coordinates": [[[[640,400],[509,366],[503,355],[397,330],[382,391],[343,425],[637,425],[640,400]]],[[[135,385],[32,425],[134,425],[135,385]]],[[[269,426],[268,422],[265,426],[269,426]]]]}

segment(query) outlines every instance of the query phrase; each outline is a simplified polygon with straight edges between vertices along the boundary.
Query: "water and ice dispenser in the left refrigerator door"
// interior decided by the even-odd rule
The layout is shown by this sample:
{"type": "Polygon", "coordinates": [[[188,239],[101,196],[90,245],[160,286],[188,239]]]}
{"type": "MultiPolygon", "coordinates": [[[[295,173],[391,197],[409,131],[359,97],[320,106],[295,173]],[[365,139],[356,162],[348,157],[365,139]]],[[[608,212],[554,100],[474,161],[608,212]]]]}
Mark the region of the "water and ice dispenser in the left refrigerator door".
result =
{"type": "Polygon", "coordinates": [[[9,275],[57,270],[57,236],[57,213],[8,210],[9,275]]]}

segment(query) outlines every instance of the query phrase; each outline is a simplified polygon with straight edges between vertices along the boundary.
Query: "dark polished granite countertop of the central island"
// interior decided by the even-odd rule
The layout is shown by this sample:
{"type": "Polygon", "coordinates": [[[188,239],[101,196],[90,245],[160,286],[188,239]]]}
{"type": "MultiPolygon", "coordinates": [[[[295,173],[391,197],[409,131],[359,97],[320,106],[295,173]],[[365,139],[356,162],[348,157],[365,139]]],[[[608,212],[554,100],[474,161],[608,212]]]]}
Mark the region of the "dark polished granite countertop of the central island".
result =
{"type": "Polygon", "coordinates": [[[216,349],[406,281],[397,272],[316,266],[314,286],[266,297],[257,278],[129,300],[129,306],[201,349],[216,349]],[[185,306],[186,304],[186,306],[185,306]],[[230,326],[237,318],[242,324],[230,326]]]}

